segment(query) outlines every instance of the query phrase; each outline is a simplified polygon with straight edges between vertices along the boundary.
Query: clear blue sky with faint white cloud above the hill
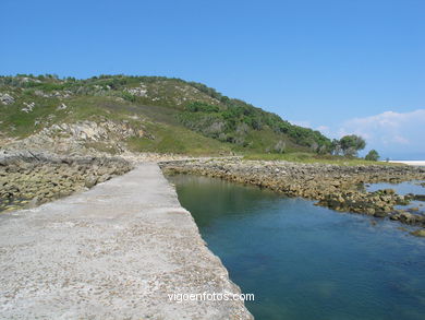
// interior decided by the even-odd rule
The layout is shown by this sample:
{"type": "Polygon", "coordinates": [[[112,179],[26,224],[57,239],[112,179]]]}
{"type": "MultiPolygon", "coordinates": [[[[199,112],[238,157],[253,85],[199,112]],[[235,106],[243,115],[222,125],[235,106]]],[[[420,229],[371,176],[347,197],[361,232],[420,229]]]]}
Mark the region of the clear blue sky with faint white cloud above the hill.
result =
{"type": "Polygon", "coordinates": [[[196,81],[425,158],[425,1],[1,0],[0,74],[196,81]]]}

